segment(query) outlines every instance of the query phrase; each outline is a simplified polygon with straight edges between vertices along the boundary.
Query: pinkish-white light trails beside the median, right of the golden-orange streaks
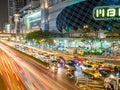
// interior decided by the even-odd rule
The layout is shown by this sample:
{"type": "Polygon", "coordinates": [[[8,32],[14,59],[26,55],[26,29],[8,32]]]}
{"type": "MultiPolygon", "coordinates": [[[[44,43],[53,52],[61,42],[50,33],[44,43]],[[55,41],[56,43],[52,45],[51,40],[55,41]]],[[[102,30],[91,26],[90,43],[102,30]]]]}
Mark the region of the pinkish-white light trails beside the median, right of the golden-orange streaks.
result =
{"type": "Polygon", "coordinates": [[[69,90],[78,90],[62,77],[51,77],[51,73],[40,66],[38,62],[30,58],[27,60],[28,57],[18,54],[17,51],[9,49],[2,44],[0,47],[9,55],[10,60],[7,55],[4,59],[4,62],[7,63],[7,68],[9,68],[8,71],[15,73],[16,80],[20,81],[27,88],[26,90],[68,90],[68,88],[69,90]]]}

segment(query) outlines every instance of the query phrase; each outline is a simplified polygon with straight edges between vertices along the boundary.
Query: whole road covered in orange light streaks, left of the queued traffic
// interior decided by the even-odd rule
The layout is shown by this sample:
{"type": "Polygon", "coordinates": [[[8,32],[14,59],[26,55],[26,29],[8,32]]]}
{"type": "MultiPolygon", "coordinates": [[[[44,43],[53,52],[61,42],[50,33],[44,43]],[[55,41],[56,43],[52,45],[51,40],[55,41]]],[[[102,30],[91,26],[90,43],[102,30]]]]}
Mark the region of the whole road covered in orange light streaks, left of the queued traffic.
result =
{"type": "Polygon", "coordinates": [[[11,90],[79,90],[74,79],[67,79],[65,70],[59,68],[57,73],[53,73],[43,68],[38,62],[30,57],[19,53],[3,44],[0,44],[2,68],[7,77],[7,88],[11,90]],[[4,51],[4,52],[3,52],[4,51]],[[15,75],[13,77],[13,75],[15,75]],[[17,88],[15,87],[17,86],[17,88]]]}

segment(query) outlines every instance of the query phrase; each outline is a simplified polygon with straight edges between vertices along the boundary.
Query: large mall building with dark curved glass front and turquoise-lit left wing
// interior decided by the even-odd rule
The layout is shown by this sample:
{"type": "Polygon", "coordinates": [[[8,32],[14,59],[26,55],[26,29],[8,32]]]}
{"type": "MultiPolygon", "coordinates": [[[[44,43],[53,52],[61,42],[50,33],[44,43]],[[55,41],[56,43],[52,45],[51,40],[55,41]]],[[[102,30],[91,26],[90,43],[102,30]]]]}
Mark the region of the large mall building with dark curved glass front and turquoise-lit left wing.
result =
{"type": "Polygon", "coordinates": [[[111,30],[117,28],[115,23],[119,22],[119,20],[95,20],[93,17],[95,7],[119,5],[119,0],[38,0],[38,2],[40,8],[31,10],[32,6],[27,5],[20,10],[20,13],[27,12],[23,15],[24,30],[42,28],[69,32],[83,29],[84,25],[94,30],[111,30]]]}

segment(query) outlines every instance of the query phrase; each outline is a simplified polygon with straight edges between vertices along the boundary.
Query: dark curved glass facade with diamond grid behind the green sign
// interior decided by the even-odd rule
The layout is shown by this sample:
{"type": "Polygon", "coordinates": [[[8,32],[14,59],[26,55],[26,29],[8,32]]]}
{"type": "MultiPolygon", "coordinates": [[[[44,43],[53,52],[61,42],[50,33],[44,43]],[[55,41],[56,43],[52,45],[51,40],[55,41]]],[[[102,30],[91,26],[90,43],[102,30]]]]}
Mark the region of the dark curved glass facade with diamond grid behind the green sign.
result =
{"type": "Polygon", "coordinates": [[[59,31],[83,29],[84,25],[92,27],[94,30],[119,29],[116,25],[119,20],[95,20],[93,9],[96,6],[120,5],[120,0],[86,0],[64,8],[57,16],[56,26],[59,31]]]}

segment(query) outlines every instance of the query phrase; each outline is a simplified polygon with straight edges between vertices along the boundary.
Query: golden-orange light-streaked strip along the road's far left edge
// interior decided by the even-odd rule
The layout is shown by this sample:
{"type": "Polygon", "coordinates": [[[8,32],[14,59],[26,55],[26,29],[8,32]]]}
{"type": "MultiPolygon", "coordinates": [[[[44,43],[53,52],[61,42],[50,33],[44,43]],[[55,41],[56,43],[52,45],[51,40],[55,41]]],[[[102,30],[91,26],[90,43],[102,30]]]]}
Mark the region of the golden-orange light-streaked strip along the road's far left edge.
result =
{"type": "Polygon", "coordinates": [[[7,90],[26,89],[20,80],[18,71],[14,60],[0,49],[0,74],[7,90]]]}

